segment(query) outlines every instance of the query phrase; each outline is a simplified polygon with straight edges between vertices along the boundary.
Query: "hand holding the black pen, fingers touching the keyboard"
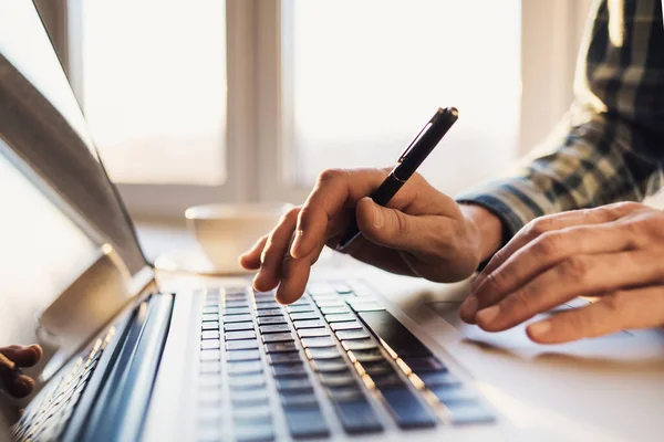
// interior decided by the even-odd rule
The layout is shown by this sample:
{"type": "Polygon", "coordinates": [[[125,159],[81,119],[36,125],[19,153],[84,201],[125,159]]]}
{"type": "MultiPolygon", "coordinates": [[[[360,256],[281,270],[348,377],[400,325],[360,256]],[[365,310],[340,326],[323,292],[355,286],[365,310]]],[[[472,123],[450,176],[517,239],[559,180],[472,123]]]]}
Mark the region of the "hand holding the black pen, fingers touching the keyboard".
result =
{"type": "Polygon", "coordinates": [[[454,282],[473,274],[501,242],[498,218],[478,206],[459,206],[414,175],[387,208],[366,196],[390,169],[326,170],[301,208],[284,214],[269,234],[240,256],[259,270],[253,286],[279,285],[277,301],[297,301],[311,265],[325,245],[334,248],[355,214],[362,236],[344,253],[388,272],[454,282]]]}

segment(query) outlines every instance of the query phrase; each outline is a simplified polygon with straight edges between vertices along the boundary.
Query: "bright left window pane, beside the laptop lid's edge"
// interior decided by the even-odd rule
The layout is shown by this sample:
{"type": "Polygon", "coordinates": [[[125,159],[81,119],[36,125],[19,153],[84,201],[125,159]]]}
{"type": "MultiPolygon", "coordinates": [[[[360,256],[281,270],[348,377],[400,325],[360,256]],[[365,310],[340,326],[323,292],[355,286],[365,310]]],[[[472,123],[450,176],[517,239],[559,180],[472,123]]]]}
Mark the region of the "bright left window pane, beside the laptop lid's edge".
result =
{"type": "Polygon", "coordinates": [[[82,106],[111,177],[226,178],[224,1],[79,0],[82,106]]]}

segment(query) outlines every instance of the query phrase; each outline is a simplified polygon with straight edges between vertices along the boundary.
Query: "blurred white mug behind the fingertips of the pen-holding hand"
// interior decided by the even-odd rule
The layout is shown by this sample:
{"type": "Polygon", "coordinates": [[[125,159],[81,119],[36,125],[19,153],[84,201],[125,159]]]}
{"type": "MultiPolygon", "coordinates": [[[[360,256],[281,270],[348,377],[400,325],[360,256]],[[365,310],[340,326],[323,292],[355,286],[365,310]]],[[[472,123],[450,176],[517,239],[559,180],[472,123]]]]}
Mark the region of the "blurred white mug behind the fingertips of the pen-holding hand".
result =
{"type": "Polygon", "coordinates": [[[211,203],[187,209],[187,225],[218,273],[238,273],[239,255],[269,233],[291,204],[211,203]]]}

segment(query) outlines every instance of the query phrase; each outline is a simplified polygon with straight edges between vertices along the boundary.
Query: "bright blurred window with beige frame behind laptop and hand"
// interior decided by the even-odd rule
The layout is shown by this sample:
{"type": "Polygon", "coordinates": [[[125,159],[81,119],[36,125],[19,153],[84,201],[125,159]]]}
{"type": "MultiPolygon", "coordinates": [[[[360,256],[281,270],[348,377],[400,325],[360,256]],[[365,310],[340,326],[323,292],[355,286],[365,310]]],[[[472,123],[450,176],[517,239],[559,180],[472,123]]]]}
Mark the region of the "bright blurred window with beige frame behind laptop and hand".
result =
{"type": "Polygon", "coordinates": [[[320,171],[392,166],[437,107],[423,175],[454,194],[572,99],[590,0],[37,0],[135,219],[301,202],[320,171]]]}

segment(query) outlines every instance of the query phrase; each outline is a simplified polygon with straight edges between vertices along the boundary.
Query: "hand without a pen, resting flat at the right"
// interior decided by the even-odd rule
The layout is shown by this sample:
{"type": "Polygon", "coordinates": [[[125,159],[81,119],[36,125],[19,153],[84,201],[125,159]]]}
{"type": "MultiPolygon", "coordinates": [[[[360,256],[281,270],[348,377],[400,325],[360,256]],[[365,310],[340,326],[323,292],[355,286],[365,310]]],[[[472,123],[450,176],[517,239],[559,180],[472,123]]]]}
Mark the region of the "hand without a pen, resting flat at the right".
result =
{"type": "Polygon", "coordinates": [[[535,220],[491,259],[460,313],[499,332],[577,296],[600,299],[528,336],[556,344],[664,325],[664,212],[626,202],[535,220]]]}

